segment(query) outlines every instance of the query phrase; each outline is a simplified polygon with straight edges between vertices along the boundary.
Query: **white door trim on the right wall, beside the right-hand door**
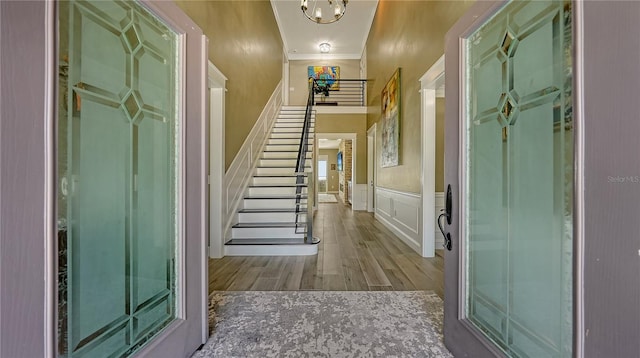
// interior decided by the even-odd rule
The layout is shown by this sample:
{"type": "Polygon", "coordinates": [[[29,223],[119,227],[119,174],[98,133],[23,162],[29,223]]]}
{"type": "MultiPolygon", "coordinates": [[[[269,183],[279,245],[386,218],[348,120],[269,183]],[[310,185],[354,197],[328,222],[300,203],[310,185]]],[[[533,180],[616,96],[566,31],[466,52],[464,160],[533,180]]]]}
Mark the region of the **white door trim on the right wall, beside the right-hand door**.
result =
{"type": "Polygon", "coordinates": [[[436,92],[444,86],[444,55],[420,78],[422,103],[422,230],[423,257],[435,256],[436,219],[436,92]]]}

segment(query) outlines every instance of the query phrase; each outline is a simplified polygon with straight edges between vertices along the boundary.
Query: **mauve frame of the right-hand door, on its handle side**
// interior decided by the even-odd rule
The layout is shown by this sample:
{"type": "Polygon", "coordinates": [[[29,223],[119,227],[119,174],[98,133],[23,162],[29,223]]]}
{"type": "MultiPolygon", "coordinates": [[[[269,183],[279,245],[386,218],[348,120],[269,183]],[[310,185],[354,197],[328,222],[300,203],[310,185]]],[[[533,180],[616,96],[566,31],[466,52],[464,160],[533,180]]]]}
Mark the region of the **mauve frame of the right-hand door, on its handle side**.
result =
{"type": "MultiPolygon", "coordinates": [[[[460,100],[465,91],[464,76],[465,59],[462,58],[465,38],[473,33],[481,24],[487,21],[507,1],[476,2],[471,8],[449,29],[445,35],[445,67],[447,71],[445,78],[445,166],[444,186],[451,185],[453,193],[453,210],[451,213],[453,225],[446,226],[446,231],[451,234],[453,248],[452,251],[444,251],[444,343],[447,349],[454,356],[467,356],[473,351],[475,357],[506,357],[504,352],[493,344],[482,332],[464,319],[464,267],[462,259],[464,247],[460,240],[460,207],[463,198],[460,195],[462,188],[462,161],[460,143],[463,136],[461,133],[461,113],[460,100]],[[457,70],[456,70],[457,69],[457,70]],[[449,279],[447,279],[449,278],[449,279]],[[453,320],[447,317],[454,317],[453,320]]],[[[446,224],[446,222],[445,222],[446,224]]]]}

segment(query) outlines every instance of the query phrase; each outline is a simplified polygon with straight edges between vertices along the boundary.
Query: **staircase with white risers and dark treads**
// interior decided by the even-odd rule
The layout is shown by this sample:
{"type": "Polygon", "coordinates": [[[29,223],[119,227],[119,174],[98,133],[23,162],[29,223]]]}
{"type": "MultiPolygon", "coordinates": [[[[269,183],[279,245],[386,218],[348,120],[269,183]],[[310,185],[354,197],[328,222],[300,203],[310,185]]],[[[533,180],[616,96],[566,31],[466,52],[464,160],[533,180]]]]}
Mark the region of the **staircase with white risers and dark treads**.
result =
{"type": "MultiPolygon", "coordinates": [[[[313,255],[317,242],[307,238],[308,184],[313,180],[315,112],[306,152],[304,177],[296,175],[305,107],[282,107],[237,213],[225,254],[313,255]]],[[[312,211],[311,211],[312,212],[312,211]]]]}

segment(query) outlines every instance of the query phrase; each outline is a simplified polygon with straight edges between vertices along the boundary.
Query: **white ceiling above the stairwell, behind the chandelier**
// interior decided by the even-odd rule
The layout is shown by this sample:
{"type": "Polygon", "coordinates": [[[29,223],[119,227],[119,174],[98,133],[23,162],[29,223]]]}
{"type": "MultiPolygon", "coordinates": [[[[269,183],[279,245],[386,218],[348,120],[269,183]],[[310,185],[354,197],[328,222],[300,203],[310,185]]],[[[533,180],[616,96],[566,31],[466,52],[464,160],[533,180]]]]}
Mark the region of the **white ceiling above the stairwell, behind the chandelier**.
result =
{"type": "MultiPolygon", "coordinates": [[[[311,10],[316,0],[308,0],[311,10]]],[[[327,2],[327,0],[317,0],[327,2]]],[[[378,0],[350,0],[347,11],[332,24],[316,24],[300,10],[300,0],[271,0],[284,48],[290,60],[360,59],[369,36],[378,0]],[[331,51],[321,54],[318,45],[328,42],[331,51]]],[[[330,16],[324,11],[323,14],[330,16]]]]}

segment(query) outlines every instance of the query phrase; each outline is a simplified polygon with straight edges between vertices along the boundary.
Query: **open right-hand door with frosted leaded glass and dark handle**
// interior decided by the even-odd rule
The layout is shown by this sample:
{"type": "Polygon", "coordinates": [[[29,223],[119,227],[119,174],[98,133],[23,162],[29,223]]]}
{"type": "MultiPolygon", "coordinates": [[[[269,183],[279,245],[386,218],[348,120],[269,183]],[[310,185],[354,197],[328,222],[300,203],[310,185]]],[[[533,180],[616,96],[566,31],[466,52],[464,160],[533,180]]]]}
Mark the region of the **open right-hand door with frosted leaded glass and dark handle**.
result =
{"type": "Polygon", "coordinates": [[[480,2],[447,34],[445,344],[573,354],[572,6],[480,2]],[[455,73],[457,72],[457,73],[455,73]]]}

